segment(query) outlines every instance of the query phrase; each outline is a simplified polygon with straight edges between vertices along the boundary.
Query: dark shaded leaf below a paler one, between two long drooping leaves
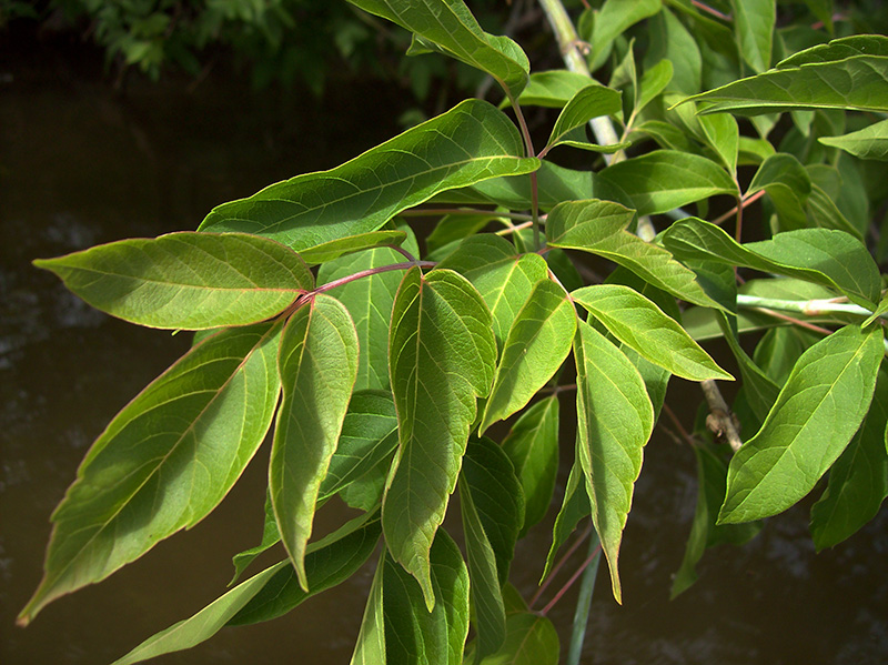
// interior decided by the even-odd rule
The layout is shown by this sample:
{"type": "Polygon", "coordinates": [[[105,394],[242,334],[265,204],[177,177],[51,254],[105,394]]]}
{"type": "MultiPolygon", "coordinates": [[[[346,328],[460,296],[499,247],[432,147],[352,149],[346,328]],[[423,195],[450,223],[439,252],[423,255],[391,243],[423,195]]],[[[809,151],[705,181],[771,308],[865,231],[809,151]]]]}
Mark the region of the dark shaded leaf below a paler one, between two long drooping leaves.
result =
{"type": "MultiPolygon", "coordinates": [[[[342,422],[336,452],[330,460],[317,501],[353,487],[364,486],[375,504],[382,497],[391,457],[397,447],[397,416],[389,394],[355,392],[342,422]]],[[[350,496],[346,494],[346,502],[350,496]]],[[[351,502],[350,505],[353,505],[351,502]]],[[[372,505],[363,504],[364,510],[372,505]]]]}

